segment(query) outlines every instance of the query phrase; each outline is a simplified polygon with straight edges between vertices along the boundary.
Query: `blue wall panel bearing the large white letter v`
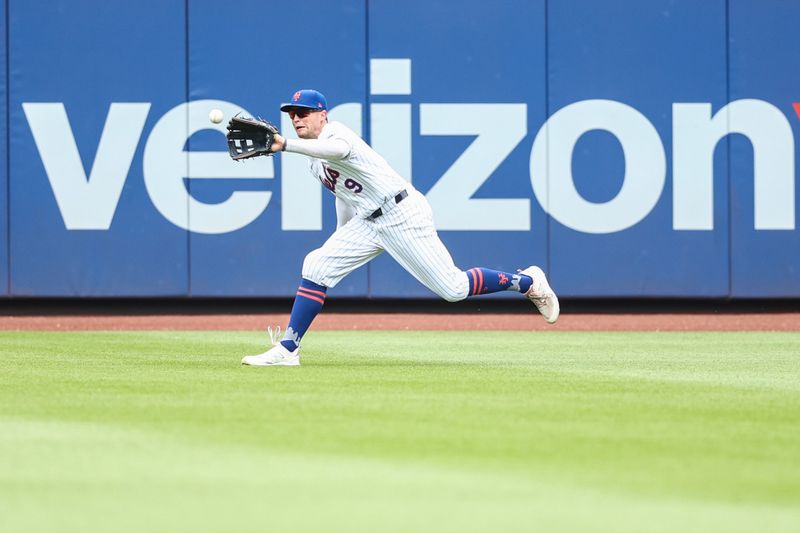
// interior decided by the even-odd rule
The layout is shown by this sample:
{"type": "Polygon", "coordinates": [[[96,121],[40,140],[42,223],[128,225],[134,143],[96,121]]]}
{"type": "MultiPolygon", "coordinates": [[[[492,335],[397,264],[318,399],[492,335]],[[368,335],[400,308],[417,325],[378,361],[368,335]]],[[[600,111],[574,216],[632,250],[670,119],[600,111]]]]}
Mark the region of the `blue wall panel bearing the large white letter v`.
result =
{"type": "Polygon", "coordinates": [[[186,100],[183,2],[8,1],[11,294],[187,294],[187,233],[143,180],[186,100]]]}

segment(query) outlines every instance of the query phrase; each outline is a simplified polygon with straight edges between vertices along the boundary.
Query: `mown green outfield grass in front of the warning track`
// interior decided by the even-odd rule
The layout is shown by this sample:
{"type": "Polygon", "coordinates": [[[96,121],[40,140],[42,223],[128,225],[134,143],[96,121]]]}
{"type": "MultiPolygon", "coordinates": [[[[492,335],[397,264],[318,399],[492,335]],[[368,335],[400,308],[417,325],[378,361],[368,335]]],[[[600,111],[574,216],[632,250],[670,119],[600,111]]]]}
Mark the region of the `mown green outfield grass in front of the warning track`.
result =
{"type": "Polygon", "coordinates": [[[800,334],[0,333],[0,531],[800,529],[800,334]]]}

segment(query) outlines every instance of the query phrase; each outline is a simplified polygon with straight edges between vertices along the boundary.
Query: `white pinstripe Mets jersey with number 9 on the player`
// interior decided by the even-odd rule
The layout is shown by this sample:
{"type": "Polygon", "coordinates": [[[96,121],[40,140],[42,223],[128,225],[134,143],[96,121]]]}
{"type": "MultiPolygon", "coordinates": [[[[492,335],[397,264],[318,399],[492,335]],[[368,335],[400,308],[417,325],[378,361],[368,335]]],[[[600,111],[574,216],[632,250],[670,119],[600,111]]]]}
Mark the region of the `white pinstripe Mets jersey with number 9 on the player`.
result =
{"type": "Polygon", "coordinates": [[[309,166],[314,177],[352,207],[357,216],[369,216],[403,189],[409,193],[413,190],[380,154],[341,122],[325,124],[319,139],[342,139],[350,147],[350,153],[342,160],[309,157],[309,166]]]}

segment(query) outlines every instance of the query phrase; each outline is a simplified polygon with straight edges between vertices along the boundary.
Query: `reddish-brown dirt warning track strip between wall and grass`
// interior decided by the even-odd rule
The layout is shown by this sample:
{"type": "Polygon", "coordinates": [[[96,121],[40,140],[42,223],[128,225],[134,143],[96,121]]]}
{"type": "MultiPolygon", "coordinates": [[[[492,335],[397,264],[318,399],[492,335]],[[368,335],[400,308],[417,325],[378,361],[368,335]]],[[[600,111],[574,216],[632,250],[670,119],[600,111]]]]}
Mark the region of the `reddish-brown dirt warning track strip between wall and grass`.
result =
{"type": "MultiPolygon", "coordinates": [[[[263,330],[288,313],[7,315],[4,331],[263,330]]],[[[312,330],[800,331],[800,312],[562,314],[546,324],[531,313],[326,313],[312,330]]]]}

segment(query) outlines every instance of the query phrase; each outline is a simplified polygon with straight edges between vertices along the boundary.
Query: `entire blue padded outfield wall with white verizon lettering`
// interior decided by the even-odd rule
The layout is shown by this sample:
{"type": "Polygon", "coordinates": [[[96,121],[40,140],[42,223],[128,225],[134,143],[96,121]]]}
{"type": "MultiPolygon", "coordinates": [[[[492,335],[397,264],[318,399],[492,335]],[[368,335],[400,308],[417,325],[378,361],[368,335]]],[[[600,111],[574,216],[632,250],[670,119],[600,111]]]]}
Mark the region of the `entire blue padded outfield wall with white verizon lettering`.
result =
{"type": "MultiPolygon", "coordinates": [[[[301,156],[234,164],[207,114],[291,136],[306,87],[427,194],[462,268],[800,296],[800,3],[95,4],[3,2],[0,296],[293,295],[333,197],[301,156]]],[[[331,294],[434,297],[386,256],[331,294]]]]}

